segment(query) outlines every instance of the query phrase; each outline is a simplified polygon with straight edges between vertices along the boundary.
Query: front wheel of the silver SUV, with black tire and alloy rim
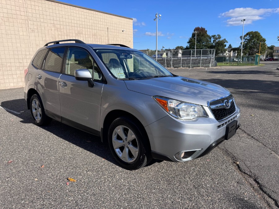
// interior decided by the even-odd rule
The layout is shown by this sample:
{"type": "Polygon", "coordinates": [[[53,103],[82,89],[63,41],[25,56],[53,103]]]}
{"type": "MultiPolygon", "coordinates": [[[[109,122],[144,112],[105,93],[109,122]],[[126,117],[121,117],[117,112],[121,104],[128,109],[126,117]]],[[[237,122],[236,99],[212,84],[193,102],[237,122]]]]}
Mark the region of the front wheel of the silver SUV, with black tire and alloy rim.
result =
{"type": "Polygon", "coordinates": [[[130,117],[115,119],[108,129],[108,145],[116,161],[128,170],[144,167],[152,159],[148,137],[130,117]]]}

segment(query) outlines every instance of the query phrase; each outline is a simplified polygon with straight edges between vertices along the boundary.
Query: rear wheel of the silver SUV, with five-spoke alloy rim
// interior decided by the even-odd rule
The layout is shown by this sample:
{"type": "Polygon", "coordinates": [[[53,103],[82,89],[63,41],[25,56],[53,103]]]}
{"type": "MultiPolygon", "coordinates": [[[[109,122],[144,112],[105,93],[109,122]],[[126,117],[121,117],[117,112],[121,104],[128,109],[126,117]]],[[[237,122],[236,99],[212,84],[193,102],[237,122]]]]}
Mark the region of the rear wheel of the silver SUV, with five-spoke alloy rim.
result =
{"type": "Polygon", "coordinates": [[[48,125],[52,118],[48,117],[38,94],[33,94],[30,99],[30,111],[36,125],[48,125]]]}

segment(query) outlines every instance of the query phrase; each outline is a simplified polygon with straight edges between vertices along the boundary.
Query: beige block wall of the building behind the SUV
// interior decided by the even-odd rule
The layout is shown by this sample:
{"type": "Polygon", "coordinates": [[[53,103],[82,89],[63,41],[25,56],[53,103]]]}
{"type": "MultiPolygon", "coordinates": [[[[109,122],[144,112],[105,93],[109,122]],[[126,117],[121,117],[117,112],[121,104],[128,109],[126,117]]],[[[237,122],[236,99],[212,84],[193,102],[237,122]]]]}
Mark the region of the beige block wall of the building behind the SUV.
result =
{"type": "Polygon", "coordinates": [[[0,89],[24,86],[38,48],[62,39],[133,47],[132,19],[54,0],[0,0],[0,89]]]}

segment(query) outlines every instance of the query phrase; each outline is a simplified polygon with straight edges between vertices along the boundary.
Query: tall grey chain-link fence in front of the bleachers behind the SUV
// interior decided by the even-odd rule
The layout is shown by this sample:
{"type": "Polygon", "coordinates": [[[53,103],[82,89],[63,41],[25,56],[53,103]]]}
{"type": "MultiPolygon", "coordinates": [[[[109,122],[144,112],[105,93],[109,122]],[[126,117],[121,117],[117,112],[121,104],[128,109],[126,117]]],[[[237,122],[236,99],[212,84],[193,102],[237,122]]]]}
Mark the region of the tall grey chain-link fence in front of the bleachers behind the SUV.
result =
{"type": "MultiPolygon", "coordinates": [[[[141,50],[156,60],[155,50],[141,50]]],[[[164,67],[215,67],[215,49],[158,50],[157,62],[164,67]]]]}

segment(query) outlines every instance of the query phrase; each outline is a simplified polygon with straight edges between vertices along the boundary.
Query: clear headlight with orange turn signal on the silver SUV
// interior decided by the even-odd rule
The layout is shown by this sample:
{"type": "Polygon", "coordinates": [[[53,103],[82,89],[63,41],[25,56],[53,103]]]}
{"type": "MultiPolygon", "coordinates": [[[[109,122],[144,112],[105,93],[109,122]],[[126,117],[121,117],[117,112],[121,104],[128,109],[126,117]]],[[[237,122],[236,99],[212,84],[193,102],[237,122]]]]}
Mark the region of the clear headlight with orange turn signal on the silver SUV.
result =
{"type": "Polygon", "coordinates": [[[190,120],[196,117],[206,117],[206,113],[201,105],[181,102],[164,97],[153,97],[160,106],[170,115],[178,119],[190,120]]]}

